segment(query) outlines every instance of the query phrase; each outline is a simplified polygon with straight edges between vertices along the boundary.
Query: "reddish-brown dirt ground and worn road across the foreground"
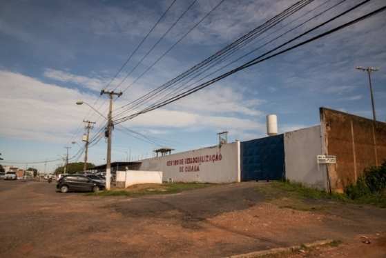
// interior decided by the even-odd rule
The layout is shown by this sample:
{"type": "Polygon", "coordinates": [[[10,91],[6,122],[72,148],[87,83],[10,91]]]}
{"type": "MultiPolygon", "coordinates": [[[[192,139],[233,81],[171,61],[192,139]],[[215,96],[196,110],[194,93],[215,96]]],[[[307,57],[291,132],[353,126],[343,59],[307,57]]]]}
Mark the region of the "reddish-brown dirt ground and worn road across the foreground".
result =
{"type": "Polygon", "coordinates": [[[294,210],[256,190],[265,186],[128,198],[0,181],[0,257],[227,257],[320,239],[342,244],[309,257],[386,257],[386,209],[331,203],[327,210],[294,210]],[[362,243],[364,235],[371,244],[362,243]],[[365,249],[375,251],[360,255],[365,249]]]}

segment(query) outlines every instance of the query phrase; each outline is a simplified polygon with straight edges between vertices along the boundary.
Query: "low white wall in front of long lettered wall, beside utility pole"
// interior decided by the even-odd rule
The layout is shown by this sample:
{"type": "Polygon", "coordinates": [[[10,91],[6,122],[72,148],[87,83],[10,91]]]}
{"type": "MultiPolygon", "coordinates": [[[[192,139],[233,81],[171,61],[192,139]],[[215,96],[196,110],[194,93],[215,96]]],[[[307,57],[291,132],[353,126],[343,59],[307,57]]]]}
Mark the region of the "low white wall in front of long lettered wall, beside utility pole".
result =
{"type": "Polygon", "coordinates": [[[126,188],[138,183],[162,183],[161,171],[117,171],[117,187],[126,188]]]}

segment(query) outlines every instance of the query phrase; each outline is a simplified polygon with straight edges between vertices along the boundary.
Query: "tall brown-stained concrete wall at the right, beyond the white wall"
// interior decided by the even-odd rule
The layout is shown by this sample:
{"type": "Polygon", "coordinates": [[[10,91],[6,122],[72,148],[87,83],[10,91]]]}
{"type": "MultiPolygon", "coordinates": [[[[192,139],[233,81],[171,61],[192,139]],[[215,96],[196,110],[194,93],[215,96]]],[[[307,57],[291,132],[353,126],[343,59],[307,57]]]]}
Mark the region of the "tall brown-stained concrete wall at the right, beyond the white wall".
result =
{"type": "Polygon", "coordinates": [[[386,159],[386,123],[320,108],[323,154],[336,155],[329,165],[331,189],[342,192],[365,168],[386,159]]]}

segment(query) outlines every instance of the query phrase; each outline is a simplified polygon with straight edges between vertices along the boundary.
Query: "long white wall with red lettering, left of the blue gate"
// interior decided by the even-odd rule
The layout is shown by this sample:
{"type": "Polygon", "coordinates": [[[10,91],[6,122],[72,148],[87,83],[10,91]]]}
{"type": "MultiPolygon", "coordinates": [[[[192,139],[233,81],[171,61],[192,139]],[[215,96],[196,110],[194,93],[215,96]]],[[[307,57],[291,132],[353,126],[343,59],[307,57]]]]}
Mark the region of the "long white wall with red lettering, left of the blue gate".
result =
{"type": "Polygon", "coordinates": [[[164,157],[144,159],[139,170],[162,171],[163,181],[230,183],[240,181],[240,141],[164,157]]]}

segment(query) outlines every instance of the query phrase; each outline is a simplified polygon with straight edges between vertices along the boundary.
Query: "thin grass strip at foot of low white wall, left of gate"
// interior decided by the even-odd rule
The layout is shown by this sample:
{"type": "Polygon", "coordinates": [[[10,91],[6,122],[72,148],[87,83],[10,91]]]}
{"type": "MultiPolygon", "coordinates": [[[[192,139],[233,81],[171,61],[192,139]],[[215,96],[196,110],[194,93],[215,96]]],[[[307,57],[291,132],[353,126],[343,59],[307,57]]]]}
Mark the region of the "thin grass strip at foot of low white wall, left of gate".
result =
{"type": "Polygon", "coordinates": [[[87,195],[93,196],[126,196],[141,197],[144,195],[165,195],[173,194],[186,190],[206,188],[214,186],[213,183],[148,183],[143,185],[130,186],[126,189],[115,188],[113,190],[104,190],[100,192],[90,192],[87,195]]]}

